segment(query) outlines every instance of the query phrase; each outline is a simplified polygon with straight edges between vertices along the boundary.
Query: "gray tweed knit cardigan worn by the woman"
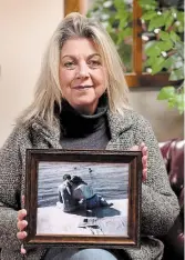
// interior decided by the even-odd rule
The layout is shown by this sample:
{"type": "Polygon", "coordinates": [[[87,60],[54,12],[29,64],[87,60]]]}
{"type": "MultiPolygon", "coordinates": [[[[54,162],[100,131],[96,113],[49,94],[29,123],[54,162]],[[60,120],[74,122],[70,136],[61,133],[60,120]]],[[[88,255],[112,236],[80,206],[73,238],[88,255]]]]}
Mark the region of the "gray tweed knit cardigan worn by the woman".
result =
{"type": "MultiPolygon", "coordinates": [[[[147,180],[142,184],[141,249],[123,249],[134,260],[162,259],[163,243],[156,236],[165,234],[178,214],[178,202],[172,191],[153,130],[142,116],[125,110],[124,118],[107,112],[111,140],[107,150],[127,150],[142,141],[148,148],[147,180]]],[[[17,126],[0,150],[0,259],[40,260],[44,249],[30,249],[20,254],[17,218],[25,184],[25,150],[28,148],[61,149],[60,127],[50,129],[43,120],[29,127],[17,126]]]]}

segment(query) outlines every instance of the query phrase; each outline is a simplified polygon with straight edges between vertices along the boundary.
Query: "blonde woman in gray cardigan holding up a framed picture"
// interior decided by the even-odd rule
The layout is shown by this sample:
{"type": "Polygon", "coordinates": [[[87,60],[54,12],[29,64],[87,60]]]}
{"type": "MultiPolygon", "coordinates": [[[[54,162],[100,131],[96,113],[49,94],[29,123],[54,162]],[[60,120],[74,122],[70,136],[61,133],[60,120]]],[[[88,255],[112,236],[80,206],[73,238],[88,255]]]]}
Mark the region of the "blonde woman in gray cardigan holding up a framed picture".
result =
{"type": "MultiPolygon", "coordinates": [[[[63,19],[45,53],[34,101],[1,149],[1,260],[22,259],[19,248],[27,237],[23,229],[29,224],[23,220],[25,209],[20,210],[25,149],[126,150],[142,142],[148,148],[148,170],[146,179],[147,150],[142,144],[141,249],[125,248],[117,252],[122,260],[162,258],[163,243],[153,236],[168,231],[178,214],[178,203],[152,128],[130,108],[127,92],[122,62],[103,27],[78,13],[63,19]]],[[[91,249],[91,253],[89,250],[32,249],[25,259],[115,259],[103,249],[91,249]]],[[[21,251],[25,252],[23,248],[21,251]]]]}

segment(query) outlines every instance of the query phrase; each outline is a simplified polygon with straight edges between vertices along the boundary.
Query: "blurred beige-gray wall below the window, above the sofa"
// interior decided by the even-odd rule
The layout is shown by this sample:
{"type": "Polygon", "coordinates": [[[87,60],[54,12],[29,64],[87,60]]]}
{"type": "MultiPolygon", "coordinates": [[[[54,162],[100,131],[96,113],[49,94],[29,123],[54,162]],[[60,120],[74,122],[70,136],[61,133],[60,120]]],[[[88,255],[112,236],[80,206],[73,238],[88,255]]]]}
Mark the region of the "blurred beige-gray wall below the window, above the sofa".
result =
{"type": "Polygon", "coordinates": [[[160,88],[130,89],[133,108],[152,123],[158,141],[184,138],[184,116],[176,109],[168,109],[166,101],[156,100],[160,88]]]}

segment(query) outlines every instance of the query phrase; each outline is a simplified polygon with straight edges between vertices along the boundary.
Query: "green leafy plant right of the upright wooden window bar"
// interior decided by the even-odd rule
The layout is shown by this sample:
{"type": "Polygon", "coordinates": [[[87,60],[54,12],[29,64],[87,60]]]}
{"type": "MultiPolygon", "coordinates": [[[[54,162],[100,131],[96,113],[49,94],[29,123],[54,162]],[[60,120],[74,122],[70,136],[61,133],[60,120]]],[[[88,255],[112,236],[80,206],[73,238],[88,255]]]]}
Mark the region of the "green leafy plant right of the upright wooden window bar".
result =
{"type": "MultiPolygon", "coordinates": [[[[169,73],[169,81],[181,81],[177,87],[163,87],[158,100],[167,100],[169,108],[184,111],[184,11],[175,7],[162,7],[156,0],[140,0],[142,23],[145,32],[155,34],[154,40],[145,44],[147,56],[145,67],[155,74],[169,73]]],[[[147,38],[146,38],[147,39],[147,38]]]]}

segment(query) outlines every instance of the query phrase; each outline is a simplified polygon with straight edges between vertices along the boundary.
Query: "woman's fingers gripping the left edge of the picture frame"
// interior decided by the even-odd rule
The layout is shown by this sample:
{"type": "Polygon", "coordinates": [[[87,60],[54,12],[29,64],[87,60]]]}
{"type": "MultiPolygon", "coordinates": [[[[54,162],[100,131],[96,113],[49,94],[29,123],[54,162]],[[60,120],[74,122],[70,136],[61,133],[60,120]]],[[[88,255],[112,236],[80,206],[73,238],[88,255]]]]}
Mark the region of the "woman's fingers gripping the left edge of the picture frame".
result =
{"type": "MultiPolygon", "coordinates": [[[[21,209],[18,211],[18,223],[17,223],[17,228],[19,230],[19,232],[17,233],[17,238],[20,240],[23,240],[27,238],[27,232],[24,231],[24,228],[28,226],[27,220],[24,220],[27,216],[27,210],[25,209],[21,209]]],[[[23,244],[21,246],[21,253],[27,253],[25,249],[23,248],[23,244]]]]}

